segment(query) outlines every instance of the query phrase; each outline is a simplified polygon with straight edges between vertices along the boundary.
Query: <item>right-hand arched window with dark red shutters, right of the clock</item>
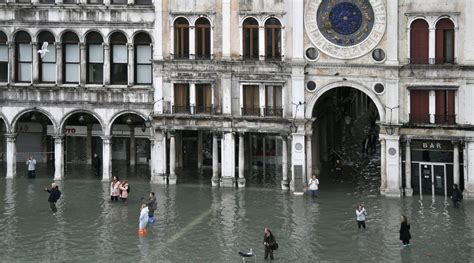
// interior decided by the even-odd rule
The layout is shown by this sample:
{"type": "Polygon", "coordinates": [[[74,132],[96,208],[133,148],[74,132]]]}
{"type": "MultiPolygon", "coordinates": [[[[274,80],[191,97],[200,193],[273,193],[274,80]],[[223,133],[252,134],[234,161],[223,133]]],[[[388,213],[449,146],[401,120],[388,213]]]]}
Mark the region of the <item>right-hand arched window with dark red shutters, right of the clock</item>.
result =
{"type": "Polygon", "coordinates": [[[444,18],[436,23],[436,64],[454,63],[454,23],[444,18]]]}

